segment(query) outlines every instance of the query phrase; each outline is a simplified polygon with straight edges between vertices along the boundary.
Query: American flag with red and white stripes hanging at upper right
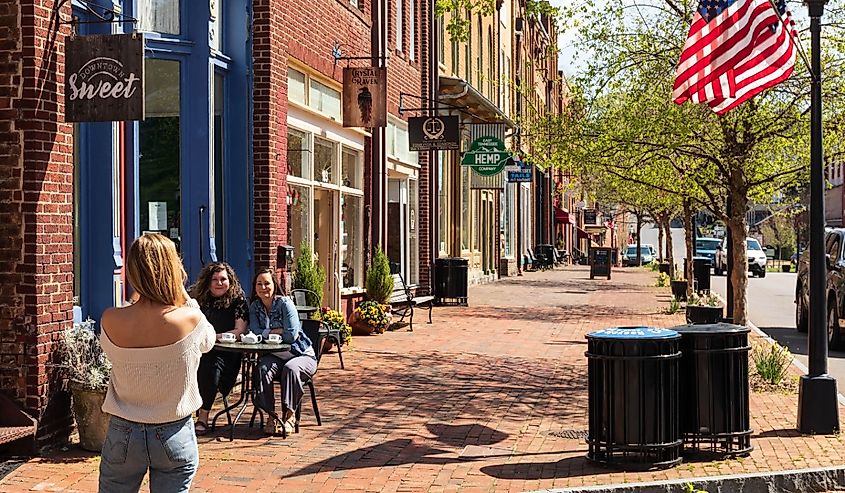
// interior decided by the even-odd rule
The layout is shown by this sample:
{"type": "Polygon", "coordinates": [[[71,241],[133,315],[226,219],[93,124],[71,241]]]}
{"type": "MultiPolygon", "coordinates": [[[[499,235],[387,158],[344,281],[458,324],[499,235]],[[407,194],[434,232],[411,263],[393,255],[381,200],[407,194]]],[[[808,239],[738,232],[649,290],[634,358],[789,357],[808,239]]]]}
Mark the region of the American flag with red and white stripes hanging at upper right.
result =
{"type": "Polygon", "coordinates": [[[798,34],[785,0],[700,0],[672,99],[706,103],[724,114],[792,74],[793,36],[798,34]]]}

